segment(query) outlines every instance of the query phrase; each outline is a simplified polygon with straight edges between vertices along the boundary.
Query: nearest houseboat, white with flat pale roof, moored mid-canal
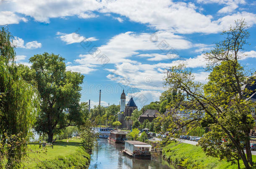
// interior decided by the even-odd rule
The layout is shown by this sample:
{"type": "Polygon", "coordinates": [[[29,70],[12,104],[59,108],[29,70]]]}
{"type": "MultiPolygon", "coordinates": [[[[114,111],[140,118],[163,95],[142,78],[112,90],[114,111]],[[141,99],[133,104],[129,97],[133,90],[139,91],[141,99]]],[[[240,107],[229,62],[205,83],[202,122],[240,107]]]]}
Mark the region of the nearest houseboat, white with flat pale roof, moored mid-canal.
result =
{"type": "Polygon", "coordinates": [[[124,154],[131,157],[151,157],[152,146],[141,141],[125,141],[124,154]]]}

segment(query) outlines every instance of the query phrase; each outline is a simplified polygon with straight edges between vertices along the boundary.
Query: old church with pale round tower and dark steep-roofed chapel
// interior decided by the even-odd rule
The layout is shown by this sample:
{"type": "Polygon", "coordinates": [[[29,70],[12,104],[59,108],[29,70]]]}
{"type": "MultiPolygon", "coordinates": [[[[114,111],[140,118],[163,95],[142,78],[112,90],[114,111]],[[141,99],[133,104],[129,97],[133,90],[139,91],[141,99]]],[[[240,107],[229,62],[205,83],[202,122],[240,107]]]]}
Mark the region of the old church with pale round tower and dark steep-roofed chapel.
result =
{"type": "Polygon", "coordinates": [[[125,117],[130,117],[133,113],[133,111],[138,108],[133,101],[133,98],[128,101],[127,105],[125,106],[125,92],[123,90],[123,93],[121,94],[120,98],[120,112],[118,113],[118,121],[122,124],[120,128],[125,128],[128,130],[131,130],[131,127],[133,125],[133,121],[130,119],[125,119],[125,117]]]}

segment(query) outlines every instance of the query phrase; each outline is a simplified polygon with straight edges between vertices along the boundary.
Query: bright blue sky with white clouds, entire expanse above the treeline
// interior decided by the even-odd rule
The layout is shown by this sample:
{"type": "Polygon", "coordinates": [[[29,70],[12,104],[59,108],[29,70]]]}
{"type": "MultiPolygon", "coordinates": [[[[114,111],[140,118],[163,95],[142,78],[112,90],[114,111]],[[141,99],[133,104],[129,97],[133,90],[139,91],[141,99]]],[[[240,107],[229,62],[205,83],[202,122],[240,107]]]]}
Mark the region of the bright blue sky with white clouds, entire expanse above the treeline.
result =
{"type": "Polygon", "coordinates": [[[222,30],[244,18],[251,37],[241,55],[255,71],[256,1],[253,0],[0,0],[0,25],[17,45],[17,63],[39,53],[60,54],[67,70],[84,74],[81,101],[118,104],[123,89],[139,108],[165,90],[165,68],[186,63],[205,83],[204,51],[222,30]]]}

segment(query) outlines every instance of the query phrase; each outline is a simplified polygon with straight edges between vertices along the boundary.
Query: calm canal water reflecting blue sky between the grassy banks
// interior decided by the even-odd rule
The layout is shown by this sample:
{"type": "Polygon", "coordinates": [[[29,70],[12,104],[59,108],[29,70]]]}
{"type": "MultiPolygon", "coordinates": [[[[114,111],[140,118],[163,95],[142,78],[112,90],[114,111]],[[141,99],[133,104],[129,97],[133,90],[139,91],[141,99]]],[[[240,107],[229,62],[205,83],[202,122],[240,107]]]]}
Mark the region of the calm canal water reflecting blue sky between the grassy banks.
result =
{"type": "Polygon", "coordinates": [[[175,169],[162,160],[159,153],[153,153],[151,160],[137,159],[120,153],[124,144],[115,144],[99,139],[91,154],[89,169],[175,169]]]}

